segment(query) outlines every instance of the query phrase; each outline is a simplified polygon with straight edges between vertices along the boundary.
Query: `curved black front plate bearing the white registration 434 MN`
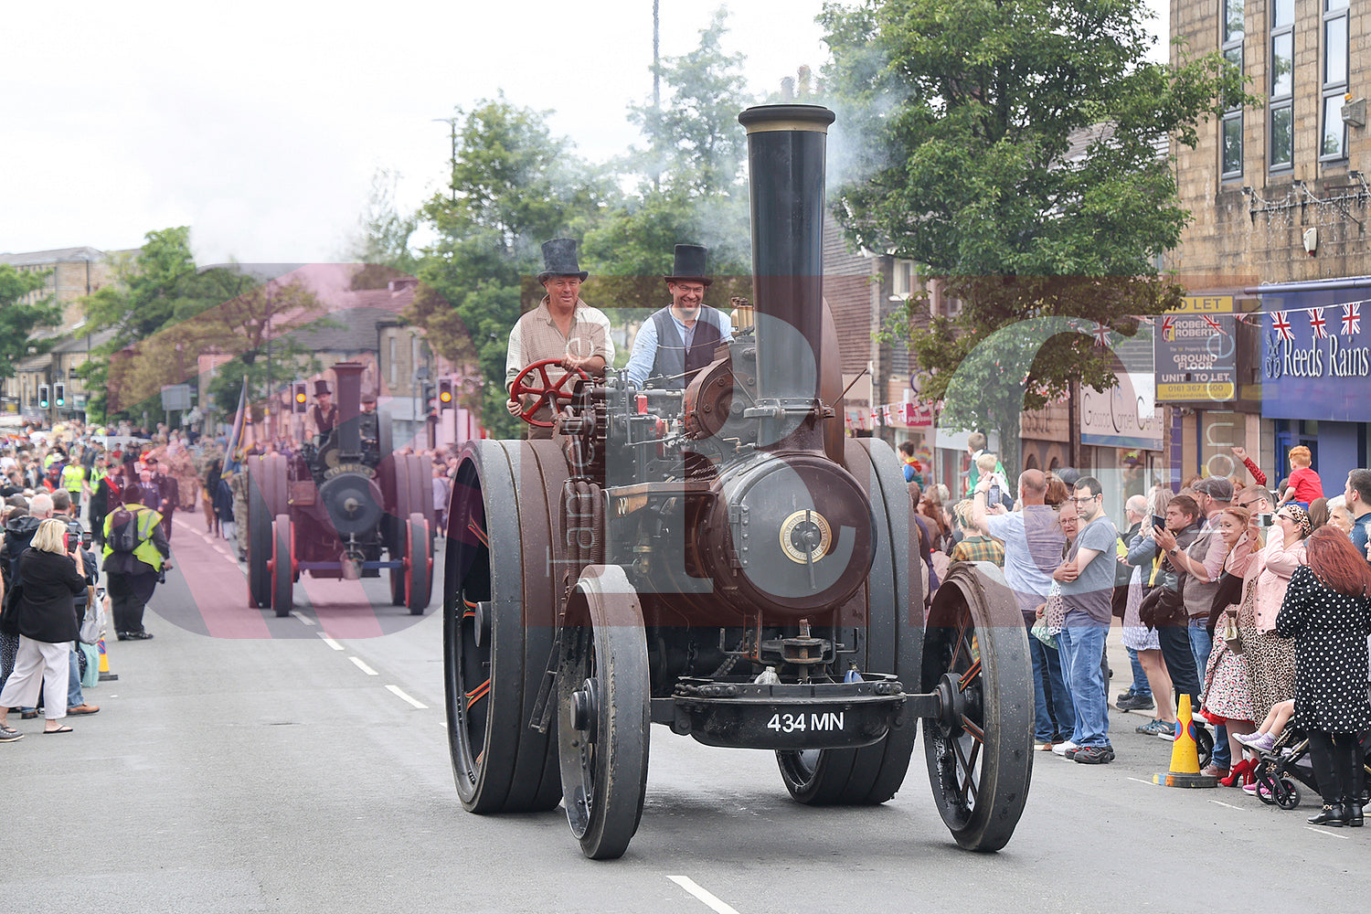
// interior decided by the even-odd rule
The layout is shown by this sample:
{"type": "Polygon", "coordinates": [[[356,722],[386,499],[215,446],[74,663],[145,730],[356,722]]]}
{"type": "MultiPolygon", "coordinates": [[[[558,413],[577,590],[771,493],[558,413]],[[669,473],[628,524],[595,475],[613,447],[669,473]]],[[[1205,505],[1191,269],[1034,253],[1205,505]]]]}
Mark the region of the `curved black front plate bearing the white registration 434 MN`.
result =
{"type": "Polygon", "coordinates": [[[805,684],[683,678],[670,702],[672,730],[706,745],[832,750],[871,745],[901,726],[905,692],[893,676],[805,684]]]}

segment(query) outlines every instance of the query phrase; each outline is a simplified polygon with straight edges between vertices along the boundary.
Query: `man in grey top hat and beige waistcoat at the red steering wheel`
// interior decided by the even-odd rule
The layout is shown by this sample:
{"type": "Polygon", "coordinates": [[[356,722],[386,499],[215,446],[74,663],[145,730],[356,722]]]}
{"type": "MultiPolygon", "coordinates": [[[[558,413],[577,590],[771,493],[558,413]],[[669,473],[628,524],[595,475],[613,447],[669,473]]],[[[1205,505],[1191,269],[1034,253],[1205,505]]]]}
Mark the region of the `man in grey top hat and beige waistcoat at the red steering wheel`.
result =
{"type": "MultiPolygon", "coordinates": [[[[587,271],[576,259],[576,241],[553,238],[543,244],[543,271],[537,281],[547,295],[537,307],[518,319],[510,330],[505,355],[505,389],[511,391],[518,373],[535,362],[557,359],[547,370],[548,381],[557,384],[568,371],[580,369],[587,374],[603,374],[614,360],[614,341],[610,338],[609,318],[598,308],[581,301],[581,282],[587,271]]],[[[540,377],[529,377],[531,385],[542,385],[540,377]]],[[[565,388],[570,393],[570,384],[565,388]]],[[[522,415],[535,404],[533,397],[515,399],[510,392],[506,403],[510,414],[522,415]]],[[[555,415],[547,403],[537,406],[529,418],[551,423],[555,415]]],[[[551,439],[551,425],[529,425],[529,439],[551,439]]]]}

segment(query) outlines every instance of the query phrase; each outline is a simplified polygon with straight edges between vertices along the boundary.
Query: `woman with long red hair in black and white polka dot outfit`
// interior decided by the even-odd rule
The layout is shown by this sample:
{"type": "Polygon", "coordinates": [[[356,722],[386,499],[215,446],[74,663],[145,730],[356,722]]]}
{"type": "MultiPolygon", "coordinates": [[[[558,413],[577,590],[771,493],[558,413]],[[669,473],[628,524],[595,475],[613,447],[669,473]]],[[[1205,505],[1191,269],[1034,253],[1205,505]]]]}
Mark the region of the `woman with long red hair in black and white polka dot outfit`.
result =
{"type": "Polygon", "coordinates": [[[1371,729],[1367,636],[1371,567],[1341,530],[1305,540],[1308,565],[1290,576],[1276,634],[1296,643],[1294,724],[1309,734],[1309,761],[1323,795],[1312,825],[1361,825],[1361,748],[1371,729]]]}

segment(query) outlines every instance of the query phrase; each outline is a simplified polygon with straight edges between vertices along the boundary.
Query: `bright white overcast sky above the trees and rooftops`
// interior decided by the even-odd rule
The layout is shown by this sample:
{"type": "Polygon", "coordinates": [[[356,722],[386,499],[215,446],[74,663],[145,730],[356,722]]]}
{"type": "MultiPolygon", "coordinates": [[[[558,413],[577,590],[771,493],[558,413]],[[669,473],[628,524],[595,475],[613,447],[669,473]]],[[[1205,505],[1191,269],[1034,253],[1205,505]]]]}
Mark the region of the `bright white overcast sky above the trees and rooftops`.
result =
{"type": "MultiPolygon", "coordinates": [[[[718,5],[661,0],[662,55],[718,5]]],[[[821,0],[728,5],[754,93],[827,59],[821,0]]],[[[404,208],[446,186],[454,106],[503,90],[599,162],[651,95],[651,0],[67,0],[7,5],[4,30],[0,252],[189,225],[202,263],[336,260],[377,169],[404,208]]]]}

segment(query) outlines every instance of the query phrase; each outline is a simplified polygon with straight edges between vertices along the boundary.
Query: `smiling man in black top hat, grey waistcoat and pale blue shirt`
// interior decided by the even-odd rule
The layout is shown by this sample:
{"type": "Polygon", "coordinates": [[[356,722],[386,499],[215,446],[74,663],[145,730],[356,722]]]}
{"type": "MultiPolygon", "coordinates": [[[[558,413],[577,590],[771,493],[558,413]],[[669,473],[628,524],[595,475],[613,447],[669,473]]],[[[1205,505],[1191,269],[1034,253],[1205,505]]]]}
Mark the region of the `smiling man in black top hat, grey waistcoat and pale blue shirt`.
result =
{"type": "Polygon", "coordinates": [[[728,315],[703,303],[712,282],[705,271],[705,256],[702,245],[676,245],[675,269],[664,277],[672,303],[644,321],[633,338],[628,380],[638,386],[650,377],[659,377],[661,386],[679,391],[714,360],[720,343],[733,338],[728,315]]]}

